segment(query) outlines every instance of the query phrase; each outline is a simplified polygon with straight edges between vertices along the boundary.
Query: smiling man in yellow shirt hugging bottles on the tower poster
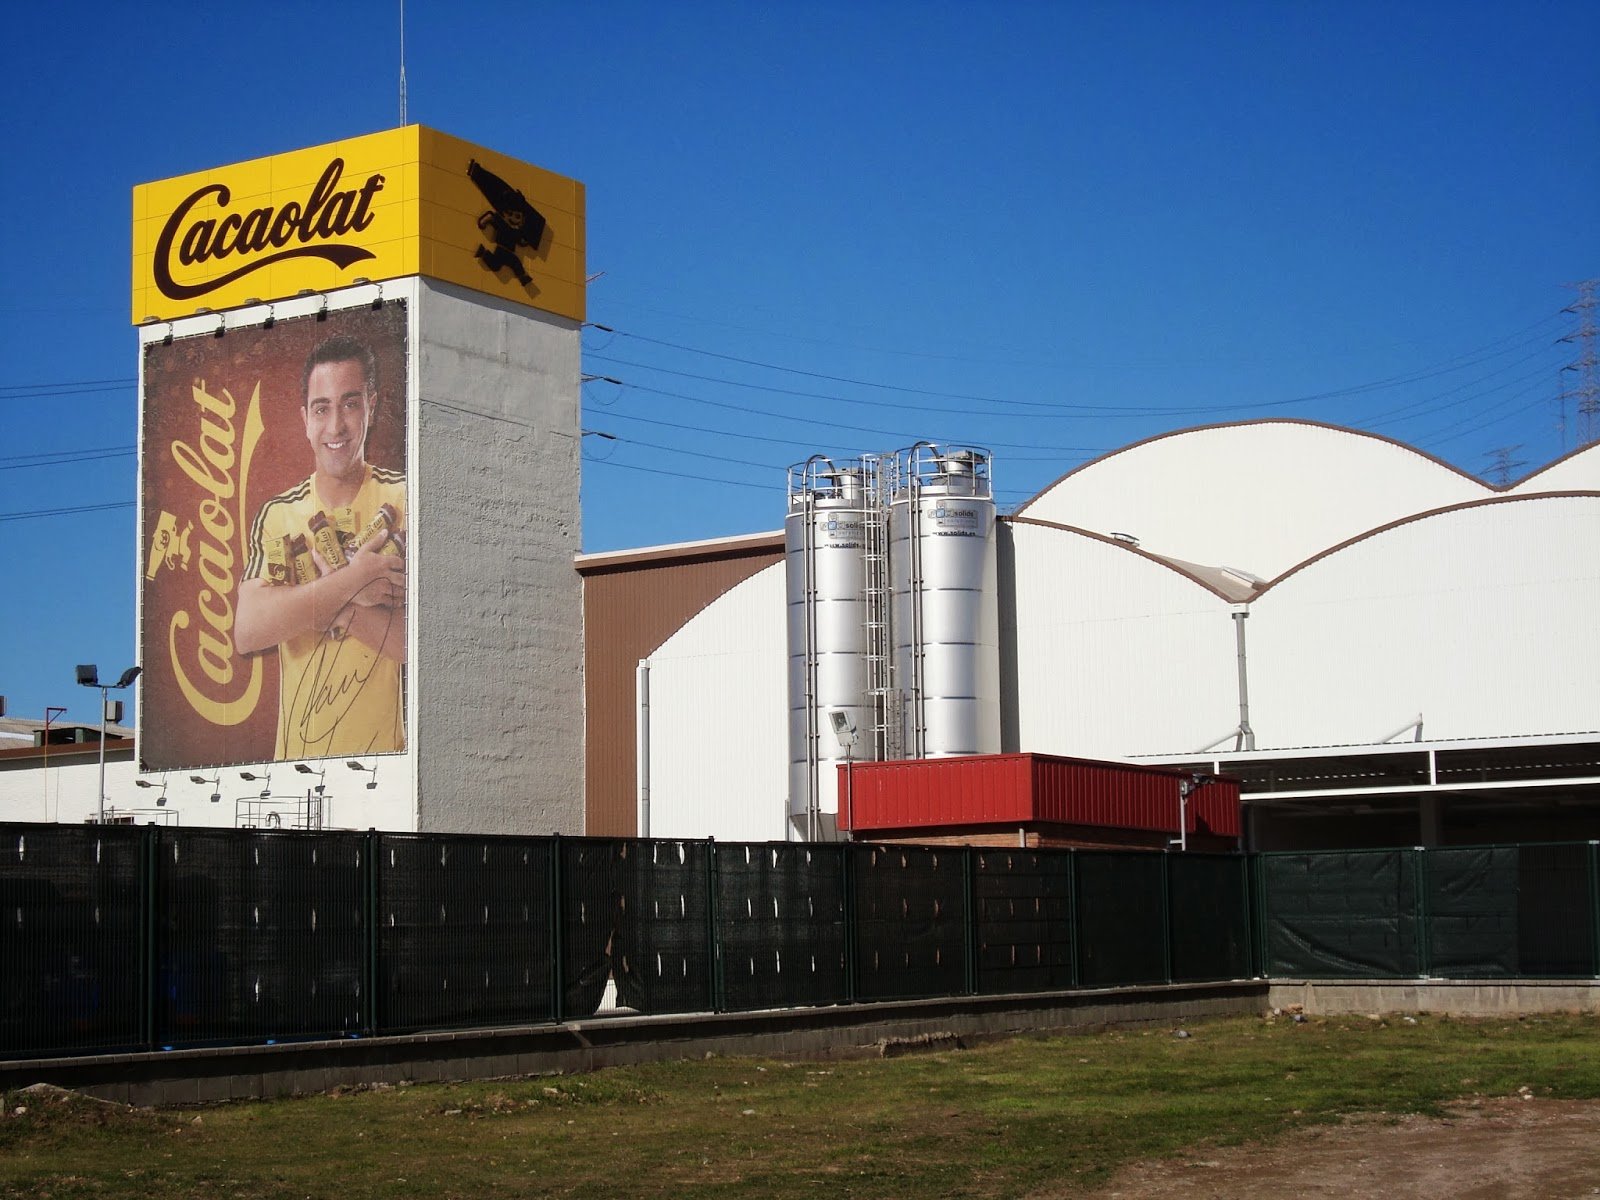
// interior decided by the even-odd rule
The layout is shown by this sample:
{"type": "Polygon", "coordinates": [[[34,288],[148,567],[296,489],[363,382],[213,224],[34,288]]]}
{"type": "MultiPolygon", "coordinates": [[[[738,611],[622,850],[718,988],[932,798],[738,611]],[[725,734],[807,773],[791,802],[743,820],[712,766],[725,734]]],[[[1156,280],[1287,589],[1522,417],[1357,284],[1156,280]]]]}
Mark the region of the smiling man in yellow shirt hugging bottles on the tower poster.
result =
{"type": "Polygon", "coordinates": [[[246,541],[235,648],[278,651],[274,758],[405,749],[405,475],[366,461],[378,362],[336,333],[306,358],[309,478],[261,506],[246,541]]]}

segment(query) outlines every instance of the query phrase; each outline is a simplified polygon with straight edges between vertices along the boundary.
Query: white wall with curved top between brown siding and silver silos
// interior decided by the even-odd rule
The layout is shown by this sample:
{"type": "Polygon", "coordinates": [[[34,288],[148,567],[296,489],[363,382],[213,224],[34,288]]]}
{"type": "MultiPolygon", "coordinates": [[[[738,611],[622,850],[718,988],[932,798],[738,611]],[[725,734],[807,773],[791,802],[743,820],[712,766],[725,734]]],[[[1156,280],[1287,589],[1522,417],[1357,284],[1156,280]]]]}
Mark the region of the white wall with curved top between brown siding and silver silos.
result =
{"type": "Polygon", "coordinates": [[[651,837],[784,840],[784,565],[776,563],[714,600],[651,653],[651,837]]]}

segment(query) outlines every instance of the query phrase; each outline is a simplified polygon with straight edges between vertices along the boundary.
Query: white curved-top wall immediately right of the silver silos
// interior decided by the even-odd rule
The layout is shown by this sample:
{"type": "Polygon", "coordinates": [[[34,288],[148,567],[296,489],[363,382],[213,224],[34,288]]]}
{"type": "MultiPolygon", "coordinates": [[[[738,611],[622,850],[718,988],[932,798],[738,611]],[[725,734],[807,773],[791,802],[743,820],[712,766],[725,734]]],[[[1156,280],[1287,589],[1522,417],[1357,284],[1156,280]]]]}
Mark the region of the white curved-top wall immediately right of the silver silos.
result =
{"type": "Polygon", "coordinates": [[[1187,752],[1238,723],[1227,600],[1115,542],[1026,523],[1011,538],[1016,749],[1187,752]]]}

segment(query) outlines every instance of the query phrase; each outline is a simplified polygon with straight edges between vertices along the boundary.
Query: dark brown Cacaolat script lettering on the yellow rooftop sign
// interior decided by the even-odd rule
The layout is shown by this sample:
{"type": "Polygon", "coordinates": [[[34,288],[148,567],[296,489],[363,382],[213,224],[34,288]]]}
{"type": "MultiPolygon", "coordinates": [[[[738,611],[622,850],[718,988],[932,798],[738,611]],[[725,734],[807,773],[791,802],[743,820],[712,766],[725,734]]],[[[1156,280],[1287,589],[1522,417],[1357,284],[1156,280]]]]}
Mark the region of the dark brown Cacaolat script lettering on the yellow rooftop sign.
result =
{"type": "Polygon", "coordinates": [[[234,194],[227,184],[206,184],[190,192],[166,218],[155,242],[150,267],[155,286],[171,299],[194,299],[285,259],[320,258],[344,269],[376,258],[370,250],[333,238],[360,234],[371,226],[373,197],[382,190],[384,178],[370,174],[360,187],[339,187],[342,176],[344,158],[334,158],[304,202],[290,200],[243,213],[229,210],[234,194]],[[264,253],[269,250],[275,253],[264,253]],[[189,269],[186,275],[211,262],[219,274],[179,283],[174,256],[189,269]],[[240,261],[237,267],[232,266],[235,261],[240,261]]]}

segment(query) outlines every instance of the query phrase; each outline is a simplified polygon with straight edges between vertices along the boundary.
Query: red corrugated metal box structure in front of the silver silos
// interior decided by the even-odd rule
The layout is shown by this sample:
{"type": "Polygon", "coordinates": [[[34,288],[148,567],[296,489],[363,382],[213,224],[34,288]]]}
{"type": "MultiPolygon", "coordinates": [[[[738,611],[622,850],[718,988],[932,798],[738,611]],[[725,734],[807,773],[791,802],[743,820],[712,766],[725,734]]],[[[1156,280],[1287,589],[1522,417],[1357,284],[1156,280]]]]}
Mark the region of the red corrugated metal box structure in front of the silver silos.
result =
{"type": "Polygon", "coordinates": [[[1238,781],[1048,754],[979,754],[838,768],[838,826],[854,832],[1099,826],[1238,837],[1238,781]]]}

